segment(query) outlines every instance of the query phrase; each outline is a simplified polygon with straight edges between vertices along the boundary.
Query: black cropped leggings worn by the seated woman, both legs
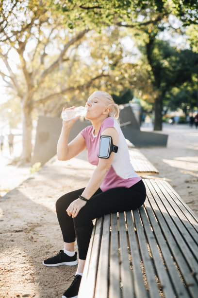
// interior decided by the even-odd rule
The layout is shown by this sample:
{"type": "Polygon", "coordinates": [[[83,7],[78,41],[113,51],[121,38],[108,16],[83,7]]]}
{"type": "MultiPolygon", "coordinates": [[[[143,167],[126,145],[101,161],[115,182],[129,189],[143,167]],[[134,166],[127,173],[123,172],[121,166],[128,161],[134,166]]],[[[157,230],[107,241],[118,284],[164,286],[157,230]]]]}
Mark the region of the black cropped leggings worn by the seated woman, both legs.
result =
{"type": "Polygon", "coordinates": [[[99,188],[74,219],[67,215],[67,207],[82,194],[84,188],[66,193],[56,202],[58,221],[64,242],[77,238],[79,259],[85,260],[93,229],[92,220],[102,215],[134,210],[144,204],[146,188],[142,180],[130,188],[116,187],[106,191],[99,188]]]}

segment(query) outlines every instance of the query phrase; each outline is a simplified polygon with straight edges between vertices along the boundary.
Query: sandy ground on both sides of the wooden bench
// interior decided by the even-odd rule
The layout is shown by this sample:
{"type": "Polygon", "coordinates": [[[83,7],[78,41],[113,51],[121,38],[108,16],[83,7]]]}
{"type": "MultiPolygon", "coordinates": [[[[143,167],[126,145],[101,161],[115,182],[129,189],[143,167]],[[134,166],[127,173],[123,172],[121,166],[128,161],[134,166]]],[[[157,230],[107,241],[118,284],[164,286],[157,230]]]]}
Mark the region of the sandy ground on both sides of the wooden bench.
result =
{"type": "MultiPolygon", "coordinates": [[[[166,178],[198,215],[198,130],[167,125],[162,133],[169,135],[166,148],[140,151],[158,168],[158,178],[166,178]]],[[[4,173],[9,188],[14,185],[11,176],[26,180],[0,198],[0,297],[61,297],[77,266],[42,265],[43,259],[63,248],[55,202],[64,193],[86,186],[93,169],[82,152],[67,162],[53,157],[32,175],[28,168],[21,174],[21,168],[15,167],[4,173]]]]}

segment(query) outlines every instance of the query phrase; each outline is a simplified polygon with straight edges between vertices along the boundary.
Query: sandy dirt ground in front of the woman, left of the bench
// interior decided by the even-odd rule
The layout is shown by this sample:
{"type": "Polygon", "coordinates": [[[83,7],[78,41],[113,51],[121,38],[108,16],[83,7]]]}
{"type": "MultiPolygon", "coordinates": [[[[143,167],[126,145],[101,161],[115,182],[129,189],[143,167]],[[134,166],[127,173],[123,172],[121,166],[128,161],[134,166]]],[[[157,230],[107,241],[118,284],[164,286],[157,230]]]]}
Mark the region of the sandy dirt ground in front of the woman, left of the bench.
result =
{"type": "Polygon", "coordinates": [[[77,266],[45,267],[63,249],[57,198],[86,186],[93,167],[75,158],[48,162],[0,199],[0,297],[61,297],[77,266]]]}

